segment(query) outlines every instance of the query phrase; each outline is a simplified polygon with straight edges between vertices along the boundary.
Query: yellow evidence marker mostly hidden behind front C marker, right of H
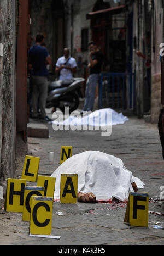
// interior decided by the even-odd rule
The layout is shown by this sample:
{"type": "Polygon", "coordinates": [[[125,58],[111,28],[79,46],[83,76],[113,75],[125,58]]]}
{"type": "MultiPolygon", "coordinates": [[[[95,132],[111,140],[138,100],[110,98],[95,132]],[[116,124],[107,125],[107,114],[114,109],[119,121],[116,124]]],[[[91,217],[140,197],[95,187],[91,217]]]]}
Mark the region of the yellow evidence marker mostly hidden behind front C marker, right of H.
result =
{"type": "Polygon", "coordinates": [[[44,196],[44,187],[37,186],[25,186],[25,196],[24,196],[24,209],[22,214],[22,220],[30,221],[31,212],[31,197],[32,196],[44,196]]]}

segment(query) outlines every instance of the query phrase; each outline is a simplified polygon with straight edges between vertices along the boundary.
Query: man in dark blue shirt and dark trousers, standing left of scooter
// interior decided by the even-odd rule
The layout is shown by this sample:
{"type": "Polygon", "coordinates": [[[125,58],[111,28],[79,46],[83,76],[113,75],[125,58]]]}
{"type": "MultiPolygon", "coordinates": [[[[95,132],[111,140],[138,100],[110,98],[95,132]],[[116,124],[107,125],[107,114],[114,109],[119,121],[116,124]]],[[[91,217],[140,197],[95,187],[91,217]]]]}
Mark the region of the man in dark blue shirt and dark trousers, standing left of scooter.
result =
{"type": "Polygon", "coordinates": [[[36,44],[28,51],[28,68],[32,70],[32,118],[40,118],[48,121],[45,106],[48,91],[48,69],[46,65],[51,65],[51,57],[48,50],[42,47],[44,36],[38,34],[36,36],[36,44]],[[40,115],[38,116],[38,98],[40,115]]]}

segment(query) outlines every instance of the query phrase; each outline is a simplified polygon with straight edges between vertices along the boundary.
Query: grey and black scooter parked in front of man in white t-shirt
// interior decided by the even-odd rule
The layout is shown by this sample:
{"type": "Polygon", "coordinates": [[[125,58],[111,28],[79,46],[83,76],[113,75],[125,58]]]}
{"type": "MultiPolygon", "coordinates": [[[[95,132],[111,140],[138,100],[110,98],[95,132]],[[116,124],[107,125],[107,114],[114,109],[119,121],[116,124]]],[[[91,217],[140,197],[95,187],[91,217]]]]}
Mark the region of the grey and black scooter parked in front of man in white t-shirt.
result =
{"type": "Polygon", "coordinates": [[[69,107],[70,113],[76,110],[79,107],[79,97],[83,98],[82,82],[84,82],[84,78],[49,82],[46,108],[60,108],[63,113],[65,113],[65,107],[69,107]]]}

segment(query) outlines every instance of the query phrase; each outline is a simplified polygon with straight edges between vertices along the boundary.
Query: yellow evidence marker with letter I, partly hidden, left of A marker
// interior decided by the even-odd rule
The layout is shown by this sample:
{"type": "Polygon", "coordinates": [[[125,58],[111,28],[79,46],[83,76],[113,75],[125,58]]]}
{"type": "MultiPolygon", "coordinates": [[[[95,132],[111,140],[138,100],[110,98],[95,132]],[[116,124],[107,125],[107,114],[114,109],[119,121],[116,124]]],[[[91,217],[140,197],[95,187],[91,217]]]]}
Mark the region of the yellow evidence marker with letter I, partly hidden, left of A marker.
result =
{"type": "Polygon", "coordinates": [[[37,180],[37,186],[44,187],[44,197],[54,197],[56,178],[39,176],[37,180]]]}

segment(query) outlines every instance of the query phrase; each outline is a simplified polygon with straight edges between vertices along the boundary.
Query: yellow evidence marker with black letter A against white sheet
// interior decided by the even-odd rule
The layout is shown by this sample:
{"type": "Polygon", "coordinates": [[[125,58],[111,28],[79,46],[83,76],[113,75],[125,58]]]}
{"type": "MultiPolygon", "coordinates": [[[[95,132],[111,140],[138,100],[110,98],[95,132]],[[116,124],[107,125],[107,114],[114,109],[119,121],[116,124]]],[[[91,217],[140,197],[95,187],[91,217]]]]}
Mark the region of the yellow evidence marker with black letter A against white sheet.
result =
{"type": "Polygon", "coordinates": [[[77,204],[78,174],[61,174],[60,203],[77,204]]]}

